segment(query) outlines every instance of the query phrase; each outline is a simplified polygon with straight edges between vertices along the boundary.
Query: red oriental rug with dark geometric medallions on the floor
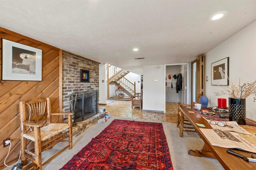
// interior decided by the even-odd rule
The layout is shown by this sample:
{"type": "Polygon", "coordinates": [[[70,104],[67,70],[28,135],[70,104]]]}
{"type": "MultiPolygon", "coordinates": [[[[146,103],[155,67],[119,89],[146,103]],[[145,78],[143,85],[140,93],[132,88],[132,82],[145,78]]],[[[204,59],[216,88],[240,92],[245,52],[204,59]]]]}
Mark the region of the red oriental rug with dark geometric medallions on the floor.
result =
{"type": "Polygon", "coordinates": [[[115,119],[60,170],[173,170],[162,123],[115,119]]]}

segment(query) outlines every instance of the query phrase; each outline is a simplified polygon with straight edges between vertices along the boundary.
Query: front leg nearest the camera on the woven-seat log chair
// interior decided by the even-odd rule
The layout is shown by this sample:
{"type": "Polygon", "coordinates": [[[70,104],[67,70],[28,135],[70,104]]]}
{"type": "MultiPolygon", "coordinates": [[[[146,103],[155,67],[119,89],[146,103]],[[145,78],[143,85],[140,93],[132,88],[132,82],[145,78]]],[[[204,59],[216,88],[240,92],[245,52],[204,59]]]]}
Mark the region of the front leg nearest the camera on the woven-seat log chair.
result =
{"type": "Polygon", "coordinates": [[[35,160],[39,166],[39,169],[42,170],[42,152],[41,152],[41,139],[40,139],[40,128],[34,128],[35,131],[35,160]]]}

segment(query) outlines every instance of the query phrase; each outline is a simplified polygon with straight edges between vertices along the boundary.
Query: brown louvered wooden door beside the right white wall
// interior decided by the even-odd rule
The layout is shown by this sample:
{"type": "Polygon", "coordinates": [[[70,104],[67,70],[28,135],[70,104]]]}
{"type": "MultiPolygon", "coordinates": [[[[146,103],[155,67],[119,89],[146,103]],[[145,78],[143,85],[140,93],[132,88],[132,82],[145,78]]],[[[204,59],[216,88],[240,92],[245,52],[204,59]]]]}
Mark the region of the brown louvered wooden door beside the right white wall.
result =
{"type": "Polygon", "coordinates": [[[196,59],[196,102],[198,101],[198,94],[205,94],[205,81],[204,81],[204,55],[200,55],[196,59]]]}

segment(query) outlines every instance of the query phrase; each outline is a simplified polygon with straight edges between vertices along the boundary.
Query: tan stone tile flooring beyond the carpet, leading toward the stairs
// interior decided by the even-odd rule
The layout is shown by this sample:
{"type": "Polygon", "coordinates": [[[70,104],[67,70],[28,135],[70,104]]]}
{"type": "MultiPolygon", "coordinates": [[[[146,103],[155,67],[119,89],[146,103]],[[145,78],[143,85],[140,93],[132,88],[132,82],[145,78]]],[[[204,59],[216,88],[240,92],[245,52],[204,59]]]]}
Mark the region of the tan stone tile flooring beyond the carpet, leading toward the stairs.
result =
{"type": "MultiPolygon", "coordinates": [[[[102,107],[100,105],[99,107],[102,107]]],[[[132,109],[131,101],[117,101],[111,105],[104,105],[112,116],[129,117],[133,119],[151,119],[163,122],[177,122],[178,105],[176,103],[166,103],[166,114],[142,111],[139,107],[132,109]]]]}

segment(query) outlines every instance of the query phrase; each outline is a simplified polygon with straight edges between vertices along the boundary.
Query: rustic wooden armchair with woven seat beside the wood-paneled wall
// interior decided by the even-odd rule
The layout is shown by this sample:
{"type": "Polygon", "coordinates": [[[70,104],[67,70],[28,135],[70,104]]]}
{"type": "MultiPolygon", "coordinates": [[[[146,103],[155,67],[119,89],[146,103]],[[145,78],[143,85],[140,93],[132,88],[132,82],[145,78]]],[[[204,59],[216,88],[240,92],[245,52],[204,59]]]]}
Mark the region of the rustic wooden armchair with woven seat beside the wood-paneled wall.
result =
{"type": "Polygon", "coordinates": [[[72,115],[74,113],[51,113],[50,98],[42,100],[36,97],[28,103],[23,101],[19,104],[21,162],[23,165],[26,165],[27,158],[31,161],[35,160],[39,169],[42,170],[42,166],[50,162],[50,160],[65,149],[72,149],[72,115]],[[27,114],[26,109],[28,111],[27,114]],[[52,123],[52,115],[68,115],[68,124],[52,123]],[[65,139],[67,137],[68,140],[65,139]],[[27,140],[34,142],[34,152],[33,150],[27,149],[27,140]],[[42,152],[51,149],[60,141],[68,141],[68,146],[64,147],[42,164],[42,152]]]}

